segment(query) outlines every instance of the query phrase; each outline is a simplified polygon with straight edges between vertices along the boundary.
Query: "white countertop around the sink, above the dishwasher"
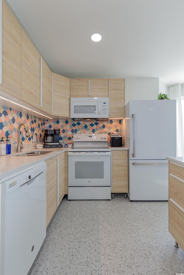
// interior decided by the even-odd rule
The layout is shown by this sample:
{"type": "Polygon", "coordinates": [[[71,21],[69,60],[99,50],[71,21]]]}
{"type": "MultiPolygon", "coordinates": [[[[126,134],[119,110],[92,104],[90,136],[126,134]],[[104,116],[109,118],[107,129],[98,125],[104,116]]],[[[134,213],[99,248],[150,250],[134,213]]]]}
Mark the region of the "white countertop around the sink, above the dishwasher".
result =
{"type": "Polygon", "coordinates": [[[7,178],[17,174],[18,172],[29,169],[30,167],[36,166],[41,162],[44,162],[46,159],[51,158],[57,154],[65,152],[68,150],[67,147],[63,148],[48,148],[48,149],[32,149],[32,150],[22,150],[21,153],[32,152],[32,151],[52,151],[44,155],[36,156],[14,156],[18,153],[12,153],[5,156],[0,156],[0,183],[7,178]]]}

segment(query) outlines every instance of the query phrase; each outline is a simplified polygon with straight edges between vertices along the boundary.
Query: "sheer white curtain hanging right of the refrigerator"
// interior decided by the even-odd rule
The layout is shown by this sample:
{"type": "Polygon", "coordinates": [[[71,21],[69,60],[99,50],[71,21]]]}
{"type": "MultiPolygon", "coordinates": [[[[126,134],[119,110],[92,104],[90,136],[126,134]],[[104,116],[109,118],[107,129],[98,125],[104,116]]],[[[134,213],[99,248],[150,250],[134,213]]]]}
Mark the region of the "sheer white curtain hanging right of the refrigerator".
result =
{"type": "Polygon", "coordinates": [[[176,99],[176,148],[177,156],[184,156],[183,117],[181,107],[181,84],[168,87],[168,98],[176,99]]]}

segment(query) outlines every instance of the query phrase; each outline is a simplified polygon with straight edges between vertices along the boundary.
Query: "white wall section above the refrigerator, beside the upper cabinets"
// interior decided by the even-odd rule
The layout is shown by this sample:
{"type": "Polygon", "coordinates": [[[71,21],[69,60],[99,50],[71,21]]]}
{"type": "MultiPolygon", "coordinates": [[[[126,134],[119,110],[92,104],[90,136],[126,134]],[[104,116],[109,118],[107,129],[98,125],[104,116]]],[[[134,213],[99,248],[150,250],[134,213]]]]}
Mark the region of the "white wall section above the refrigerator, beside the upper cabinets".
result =
{"type": "MultiPolygon", "coordinates": [[[[163,89],[165,84],[162,83],[160,87],[163,89]]],[[[125,78],[125,105],[129,100],[157,99],[160,87],[159,78],[125,78]]]]}

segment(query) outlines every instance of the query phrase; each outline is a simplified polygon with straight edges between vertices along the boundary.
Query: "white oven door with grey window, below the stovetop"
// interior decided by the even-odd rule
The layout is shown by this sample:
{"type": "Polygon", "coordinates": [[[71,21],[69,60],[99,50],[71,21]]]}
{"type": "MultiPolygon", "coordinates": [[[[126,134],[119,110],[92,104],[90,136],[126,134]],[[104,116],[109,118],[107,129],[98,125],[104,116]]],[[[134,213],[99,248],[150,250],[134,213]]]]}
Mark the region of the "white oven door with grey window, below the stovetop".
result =
{"type": "Polygon", "coordinates": [[[70,186],[111,186],[111,152],[68,152],[70,186]]]}

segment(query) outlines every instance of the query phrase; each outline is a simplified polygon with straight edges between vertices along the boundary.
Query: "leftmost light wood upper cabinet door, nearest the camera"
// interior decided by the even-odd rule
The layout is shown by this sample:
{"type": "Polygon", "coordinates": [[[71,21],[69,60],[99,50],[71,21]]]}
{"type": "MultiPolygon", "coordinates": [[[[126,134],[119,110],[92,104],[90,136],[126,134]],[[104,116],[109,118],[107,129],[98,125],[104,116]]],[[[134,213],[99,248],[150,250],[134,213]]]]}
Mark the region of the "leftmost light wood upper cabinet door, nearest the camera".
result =
{"type": "Polygon", "coordinates": [[[1,91],[21,98],[21,26],[2,1],[1,91]]]}

